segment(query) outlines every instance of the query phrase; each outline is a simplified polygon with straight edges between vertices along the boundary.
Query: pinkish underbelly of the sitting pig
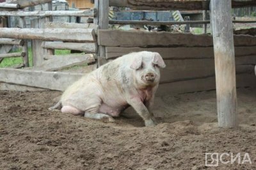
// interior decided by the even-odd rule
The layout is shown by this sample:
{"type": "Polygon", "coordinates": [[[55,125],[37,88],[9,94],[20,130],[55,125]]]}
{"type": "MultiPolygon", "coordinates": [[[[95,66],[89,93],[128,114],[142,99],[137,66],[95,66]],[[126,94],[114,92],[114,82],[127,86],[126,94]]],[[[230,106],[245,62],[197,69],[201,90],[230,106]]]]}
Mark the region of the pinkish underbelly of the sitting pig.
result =
{"type": "Polygon", "coordinates": [[[100,105],[99,111],[100,113],[105,113],[110,115],[111,117],[118,117],[120,112],[127,108],[128,104],[122,104],[118,106],[108,106],[105,103],[100,105]]]}

